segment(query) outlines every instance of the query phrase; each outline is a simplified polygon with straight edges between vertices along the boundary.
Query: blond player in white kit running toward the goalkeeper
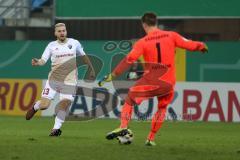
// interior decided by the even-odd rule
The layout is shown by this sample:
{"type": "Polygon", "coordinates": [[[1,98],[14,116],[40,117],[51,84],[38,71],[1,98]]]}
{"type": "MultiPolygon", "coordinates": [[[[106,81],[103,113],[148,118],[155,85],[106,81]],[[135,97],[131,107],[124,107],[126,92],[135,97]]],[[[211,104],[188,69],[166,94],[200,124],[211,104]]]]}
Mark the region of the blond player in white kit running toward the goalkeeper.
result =
{"type": "MultiPolygon", "coordinates": [[[[64,85],[77,85],[77,65],[76,58],[81,58],[90,69],[90,77],[94,77],[93,66],[85,54],[79,41],[67,38],[67,30],[64,23],[55,25],[56,41],[50,42],[40,59],[33,58],[32,66],[43,66],[51,58],[52,69],[48,75],[48,80],[42,91],[42,97],[26,113],[26,120],[30,120],[38,110],[45,110],[50,106],[51,100],[56,93],[60,94],[60,102],[57,104],[55,124],[49,136],[60,136],[61,126],[65,120],[66,112],[74,100],[75,87],[70,87],[72,91],[64,91],[64,85]],[[64,81],[61,82],[61,79],[64,81]],[[53,83],[54,82],[54,83],[53,83]]],[[[66,87],[65,87],[66,88],[66,87]]]]}

